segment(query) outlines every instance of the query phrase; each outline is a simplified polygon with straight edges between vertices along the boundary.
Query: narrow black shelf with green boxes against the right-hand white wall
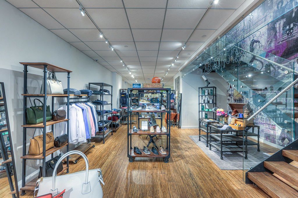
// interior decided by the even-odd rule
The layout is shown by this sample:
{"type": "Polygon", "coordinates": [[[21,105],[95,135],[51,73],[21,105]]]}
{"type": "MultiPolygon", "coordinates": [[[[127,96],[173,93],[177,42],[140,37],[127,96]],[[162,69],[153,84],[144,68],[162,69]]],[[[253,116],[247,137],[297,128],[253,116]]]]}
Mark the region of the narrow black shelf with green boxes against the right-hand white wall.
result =
{"type": "Polygon", "coordinates": [[[206,104],[210,104],[212,105],[212,108],[216,107],[216,87],[199,87],[199,121],[200,121],[200,118],[205,118],[205,115],[203,112],[207,112],[207,113],[212,113],[212,117],[210,117],[208,115],[208,119],[215,119],[216,120],[216,112],[215,111],[206,111],[205,107],[206,107],[206,104]],[[209,91],[210,93],[210,90],[212,89],[212,92],[213,94],[208,94],[208,95],[203,95],[202,94],[202,90],[204,90],[204,93],[206,93],[206,90],[209,91]],[[205,102],[205,97],[208,97],[208,101],[210,101],[210,99],[213,100],[212,103],[210,102],[205,102]],[[204,102],[201,102],[201,100],[204,99],[204,102]],[[204,110],[202,110],[202,106],[204,106],[204,110]]]}

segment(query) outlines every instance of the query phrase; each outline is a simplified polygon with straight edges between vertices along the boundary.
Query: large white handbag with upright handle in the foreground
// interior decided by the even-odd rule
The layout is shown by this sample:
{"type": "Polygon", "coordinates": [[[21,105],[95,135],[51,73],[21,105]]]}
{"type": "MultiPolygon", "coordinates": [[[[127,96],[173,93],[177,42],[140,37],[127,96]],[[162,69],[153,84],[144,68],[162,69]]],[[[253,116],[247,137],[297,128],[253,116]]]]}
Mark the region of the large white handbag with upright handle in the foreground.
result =
{"type": "MultiPolygon", "coordinates": [[[[103,197],[101,187],[103,175],[100,169],[89,170],[88,159],[81,151],[69,151],[65,153],[56,163],[52,177],[41,177],[37,180],[35,191],[37,196],[52,193],[56,195],[65,189],[63,198],[85,198],[85,197],[103,197]],[[56,176],[58,164],[69,155],[78,154],[83,157],[86,163],[86,171],[79,171],[67,175],[56,176]]],[[[34,195],[35,195],[34,191],[34,195]]]]}

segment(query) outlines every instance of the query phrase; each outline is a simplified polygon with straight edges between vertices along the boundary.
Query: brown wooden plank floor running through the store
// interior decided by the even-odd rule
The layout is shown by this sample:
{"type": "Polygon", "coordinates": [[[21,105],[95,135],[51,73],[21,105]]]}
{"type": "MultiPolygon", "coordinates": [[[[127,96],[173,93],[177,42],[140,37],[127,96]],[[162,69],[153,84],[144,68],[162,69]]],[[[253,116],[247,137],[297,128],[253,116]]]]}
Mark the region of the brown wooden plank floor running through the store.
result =
{"type": "MultiPolygon", "coordinates": [[[[127,157],[127,125],[109,135],[105,141],[92,139],[95,148],[86,154],[89,169],[103,171],[104,197],[268,197],[262,190],[243,182],[242,170],[221,170],[188,137],[198,135],[198,129],[171,128],[171,156],[169,163],[163,158],[136,158],[130,163],[127,157]]],[[[156,144],[165,146],[164,137],[156,144]]],[[[134,135],[133,146],[147,145],[146,135],[134,135]]],[[[150,148],[152,147],[152,144],[150,148]]],[[[70,163],[70,172],[85,170],[82,158],[70,163]]],[[[0,179],[0,197],[11,197],[4,192],[0,179]]],[[[6,183],[8,186],[8,183],[6,183]]],[[[23,198],[33,197],[27,191],[23,198]]]]}

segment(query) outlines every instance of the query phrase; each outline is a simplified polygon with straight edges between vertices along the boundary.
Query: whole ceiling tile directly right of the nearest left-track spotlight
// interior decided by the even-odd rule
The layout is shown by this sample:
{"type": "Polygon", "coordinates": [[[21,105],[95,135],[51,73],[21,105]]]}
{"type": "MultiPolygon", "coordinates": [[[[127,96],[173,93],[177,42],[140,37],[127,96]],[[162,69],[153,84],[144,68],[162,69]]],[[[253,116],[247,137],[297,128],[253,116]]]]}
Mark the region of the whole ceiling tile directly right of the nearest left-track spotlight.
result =
{"type": "Polygon", "coordinates": [[[100,29],[129,28],[124,8],[86,9],[100,29]]]}

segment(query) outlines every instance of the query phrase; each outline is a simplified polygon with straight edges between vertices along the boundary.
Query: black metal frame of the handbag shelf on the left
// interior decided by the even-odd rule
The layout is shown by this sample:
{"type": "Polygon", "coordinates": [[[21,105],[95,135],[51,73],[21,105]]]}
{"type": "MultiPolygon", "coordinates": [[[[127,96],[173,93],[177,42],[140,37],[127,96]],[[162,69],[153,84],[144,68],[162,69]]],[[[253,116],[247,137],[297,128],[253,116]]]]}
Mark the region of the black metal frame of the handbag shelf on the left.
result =
{"type": "MultiPolygon", "coordinates": [[[[23,106],[23,111],[24,111],[24,116],[23,116],[23,123],[24,125],[26,125],[26,109],[27,109],[27,98],[31,98],[31,97],[41,97],[43,98],[43,103],[44,103],[44,106],[43,108],[46,109],[46,99],[47,99],[47,95],[46,95],[46,89],[47,89],[47,66],[46,64],[43,65],[44,66],[44,69],[43,69],[43,72],[44,72],[44,78],[43,78],[43,96],[26,96],[24,95],[24,99],[23,99],[23,102],[24,102],[24,106],[23,106]]],[[[28,65],[27,64],[24,64],[24,94],[27,94],[27,73],[28,73],[28,70],[27,70],[27,67],[28,65]]],[[[55,72],[59,72],[59,73],[67,73],[67,96],[52,96],[52,112],[54,112],[54,98],[56,97],[67,97],[67,123],[66,123],[66,134],[67,136],[69,137],[69,85],[70,85],[70,72],[69,70],[67,71],[55,71],[55,72]]],[[[40,128],[40,129],[43,129],[43,159],[42,159],[42,176],[45,177],[45,173],[46,173],[46,111],[43,112],[44,115],[43,115],[43,126],[42,128],[40,127],[23,127],[23,156],[25,156],[27,154],[26,152],[26,137],[27,137],[27,129],[29,128],[40,128]]],[[[52,131],[53,131],[53,134],[55,134],[55,131],[54,131],[54,125],[51,125],[51,128],[52,128],[52,131]]],[[[69,142],[67,142],[69,143],[69,142]]],[[[69,144],[66,145],[66,152],[69,151],[69,144]]],[[[51,154],[51,157],[53,158],[54,157],[54,153],[51,154]]],[[[22,159],[22,188],[25,187],[26,185],[26,161],[27,159],[22,159]]],[[[67,173],[69,173],[69,157],[67,157],[67,160],[66,160],[66,165],[67,165],[67,173]]],[[[21,195],[24,195],[26,194],[25,193],[25,190],[21,190],[22,193],[21,195]]]]}

